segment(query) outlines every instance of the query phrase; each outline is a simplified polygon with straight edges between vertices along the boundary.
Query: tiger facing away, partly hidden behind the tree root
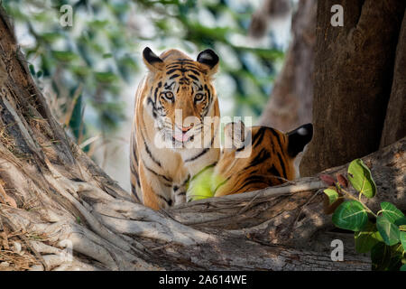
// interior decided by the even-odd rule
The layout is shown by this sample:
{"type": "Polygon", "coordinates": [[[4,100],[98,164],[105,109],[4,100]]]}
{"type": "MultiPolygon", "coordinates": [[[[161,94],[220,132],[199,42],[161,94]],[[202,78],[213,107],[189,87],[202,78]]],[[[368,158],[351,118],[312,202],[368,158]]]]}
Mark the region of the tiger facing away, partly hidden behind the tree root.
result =
{"type": "Polygon", "coordinates": [[[282,133],[268,126],[225,126],[225,144],[216,164],[198,172],[189,182],[187,199],[201,200],[256,191],[300,176],[300,153],[313,136],[312,124],[282,133]]]}

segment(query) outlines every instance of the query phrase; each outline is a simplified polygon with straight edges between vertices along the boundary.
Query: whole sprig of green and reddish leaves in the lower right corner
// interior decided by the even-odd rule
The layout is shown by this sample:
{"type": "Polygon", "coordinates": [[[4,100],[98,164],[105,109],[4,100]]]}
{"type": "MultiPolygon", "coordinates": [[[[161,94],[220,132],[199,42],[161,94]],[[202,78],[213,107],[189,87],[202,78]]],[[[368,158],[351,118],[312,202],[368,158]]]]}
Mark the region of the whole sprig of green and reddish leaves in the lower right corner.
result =
{"type": "Polygon", "coordinates": [[[348,166],[348,179],[359,193],[356,199],[346,191],[348,182],[342,174],[336,181],[329,175],[320,178],[330,187],[326,193],[330,205],[346,200],[334,211],[332,221],[337,228],[355,232],[355,250],[371,252],[373,270],[406,270],[406,218],[392,203],[383,201],[376,214],[363,202],[362,197],[374,198],[376,185],[371,171],[362,160],[356,159],[348,166]],[[374,222],[369,220],[374,217],[374,222]]]}

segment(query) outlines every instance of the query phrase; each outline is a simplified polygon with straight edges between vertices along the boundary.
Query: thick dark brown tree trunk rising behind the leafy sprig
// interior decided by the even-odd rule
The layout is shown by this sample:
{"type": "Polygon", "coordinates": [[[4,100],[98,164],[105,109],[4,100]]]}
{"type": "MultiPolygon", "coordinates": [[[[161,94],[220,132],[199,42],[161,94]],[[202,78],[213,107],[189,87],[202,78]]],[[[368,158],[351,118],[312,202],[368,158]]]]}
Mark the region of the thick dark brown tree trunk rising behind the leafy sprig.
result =
{"type": "MultiPolygon", "coordinates": [[[[312,175],[376,151],[391,95],[395,51],[406,3],[342,1],[343,27],[330,24],[330,9],[335,4],[337,1],[333,0],[318,3],[314,137],[303,155],[301,175],[312,175]]],[[[399,61],[401,54],[398,51],[399,61]]],[[[399,81],[404,80],[404,65],[398,63],[396,67],[403,74],[399,81]]],[[[394,85],[404,89],[406,83],[394,85]]],[[[404,102],[404,93],[396,90],[393,98],[402,98],[404,102]]]]}

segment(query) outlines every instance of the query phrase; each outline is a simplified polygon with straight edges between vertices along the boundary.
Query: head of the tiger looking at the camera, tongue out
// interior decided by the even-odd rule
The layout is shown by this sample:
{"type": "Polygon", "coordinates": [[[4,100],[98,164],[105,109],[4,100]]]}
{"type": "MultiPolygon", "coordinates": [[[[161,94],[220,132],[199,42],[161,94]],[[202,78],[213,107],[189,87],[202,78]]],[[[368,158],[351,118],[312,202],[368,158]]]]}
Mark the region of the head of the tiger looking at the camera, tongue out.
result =
{"type": "Polygon", "coordinates": [[[192,61],[180,51],[166,51],[160,57],[149,48],[143,61],[153,74],[151,91],[144,107],[155,121],[157,146],[174,150],[205,148],[213,143],[218,126],[217,94],[211,84],[218,56],[202,51],[192,61]]]}

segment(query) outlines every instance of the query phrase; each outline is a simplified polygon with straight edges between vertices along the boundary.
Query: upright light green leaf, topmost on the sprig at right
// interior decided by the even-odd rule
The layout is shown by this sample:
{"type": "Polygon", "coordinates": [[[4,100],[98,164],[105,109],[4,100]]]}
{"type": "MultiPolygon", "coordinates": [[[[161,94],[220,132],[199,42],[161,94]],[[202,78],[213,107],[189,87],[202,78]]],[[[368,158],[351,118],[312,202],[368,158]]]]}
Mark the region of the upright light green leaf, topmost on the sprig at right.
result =
{"type": "Polygon", "coordinates": [[[371,171],[361,161],[356,159],[348,166],[348,180],[354,189],[367,198],[373,198],[376,193],[376,185],[372,178],[371,171]]]}

